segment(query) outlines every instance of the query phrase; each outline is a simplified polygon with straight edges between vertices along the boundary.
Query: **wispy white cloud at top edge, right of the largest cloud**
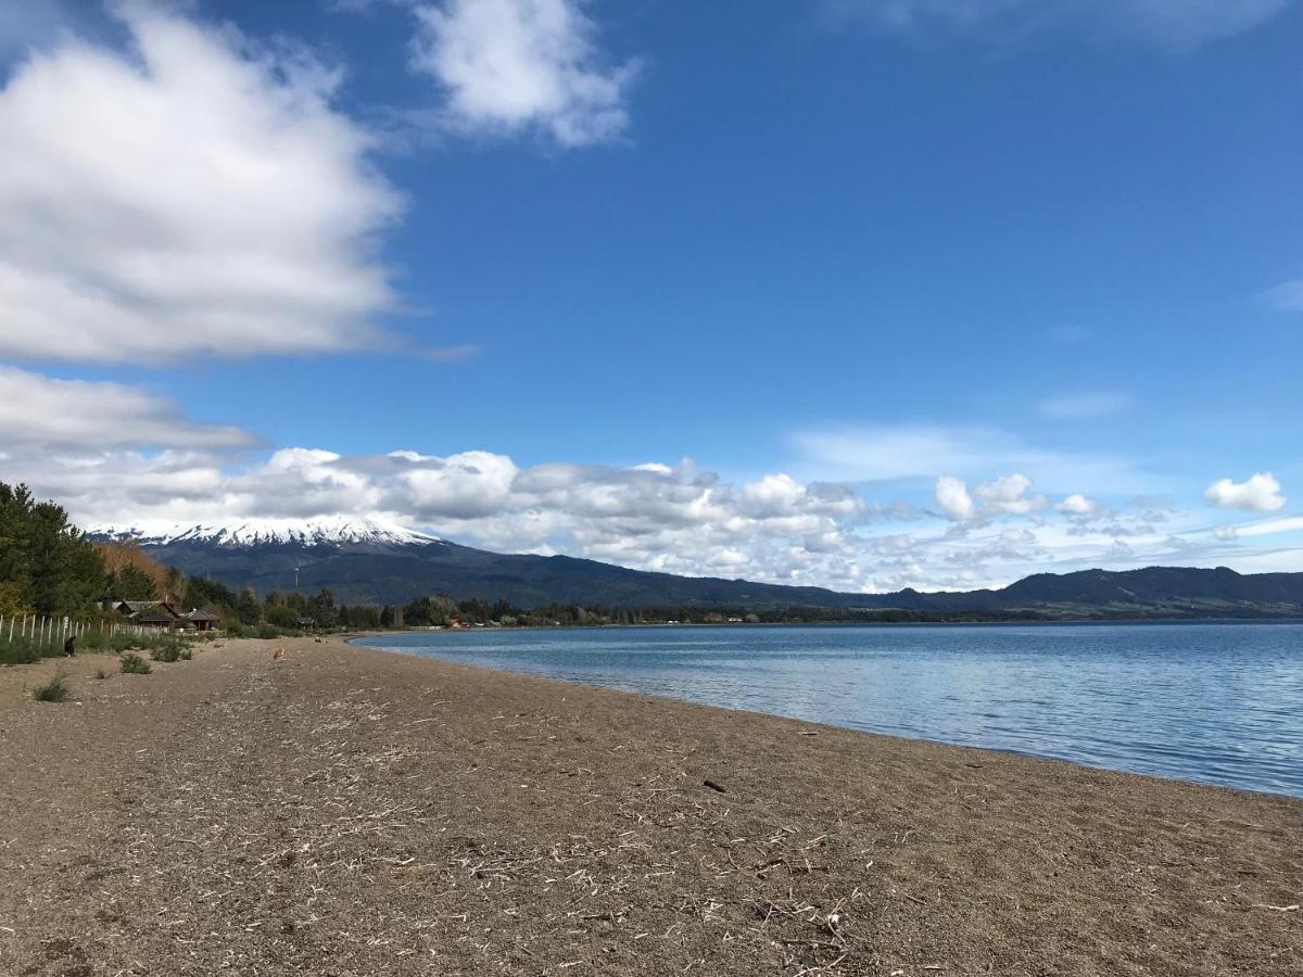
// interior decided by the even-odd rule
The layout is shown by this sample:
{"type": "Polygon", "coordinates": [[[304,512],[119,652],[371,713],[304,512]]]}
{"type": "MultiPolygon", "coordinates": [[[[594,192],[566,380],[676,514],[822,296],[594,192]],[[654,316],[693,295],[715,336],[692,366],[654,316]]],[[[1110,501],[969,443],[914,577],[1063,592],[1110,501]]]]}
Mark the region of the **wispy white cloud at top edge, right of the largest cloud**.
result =
{"type": "Polygon", "coordinates": [[[541,132],[576,147],[622,135],[633,63],[610,66],[580,0],[443,0],[417,7],[412,66],[464,132],[541,132]]]}

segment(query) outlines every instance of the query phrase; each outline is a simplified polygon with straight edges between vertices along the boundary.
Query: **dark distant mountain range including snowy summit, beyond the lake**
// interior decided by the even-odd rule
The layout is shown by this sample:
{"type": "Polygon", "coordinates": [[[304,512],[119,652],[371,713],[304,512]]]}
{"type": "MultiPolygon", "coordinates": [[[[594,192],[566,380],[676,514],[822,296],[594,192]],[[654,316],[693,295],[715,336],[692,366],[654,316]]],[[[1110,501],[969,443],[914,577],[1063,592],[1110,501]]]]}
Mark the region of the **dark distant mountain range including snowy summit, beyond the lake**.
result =
{"type": "Polygon", "coordinates": [[[1303,573],[1240,574],[1220,567],[1037,573],[999,590],[846,594],[822,588],[756,584],[612,567],[572,556],[496,554],[459,546],[375,520],[248,520],[168,528],[91,529],[102,541],[130,541],[192,576],[261,593],[330,588],[345,603],[405,603],[444,593],[499,598],[517,607],[794,606],[930,612],[1036,611],[1052,616],[1303,616],[1303,573]]]}

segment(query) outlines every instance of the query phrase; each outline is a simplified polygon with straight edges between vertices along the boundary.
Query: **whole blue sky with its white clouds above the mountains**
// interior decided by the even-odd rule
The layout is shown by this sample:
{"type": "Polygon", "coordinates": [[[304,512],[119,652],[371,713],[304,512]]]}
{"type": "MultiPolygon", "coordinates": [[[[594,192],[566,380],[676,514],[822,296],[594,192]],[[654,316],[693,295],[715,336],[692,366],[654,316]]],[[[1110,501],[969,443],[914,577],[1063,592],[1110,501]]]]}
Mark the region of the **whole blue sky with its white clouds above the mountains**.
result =
{"type": "Polygon", "coordinates": [[[846,589],[1303,569],[1300,42],[1285,0],[0,14],[5,477],[846,589]]]}

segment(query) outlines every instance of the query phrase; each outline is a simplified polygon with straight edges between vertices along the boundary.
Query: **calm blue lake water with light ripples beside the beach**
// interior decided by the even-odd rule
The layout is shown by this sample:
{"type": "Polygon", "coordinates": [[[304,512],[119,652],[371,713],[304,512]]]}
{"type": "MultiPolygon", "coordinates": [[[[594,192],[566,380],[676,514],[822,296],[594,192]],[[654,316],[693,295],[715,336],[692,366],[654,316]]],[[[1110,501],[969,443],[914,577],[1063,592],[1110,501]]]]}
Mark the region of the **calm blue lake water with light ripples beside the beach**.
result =
{"type": "Polygon", "coordinates": [[[407,654],[1303,797],[1303,625],[395,634],[407,654]]]}

